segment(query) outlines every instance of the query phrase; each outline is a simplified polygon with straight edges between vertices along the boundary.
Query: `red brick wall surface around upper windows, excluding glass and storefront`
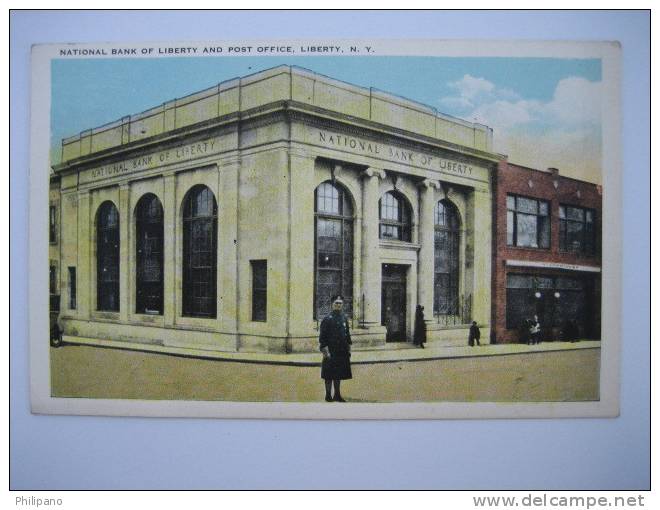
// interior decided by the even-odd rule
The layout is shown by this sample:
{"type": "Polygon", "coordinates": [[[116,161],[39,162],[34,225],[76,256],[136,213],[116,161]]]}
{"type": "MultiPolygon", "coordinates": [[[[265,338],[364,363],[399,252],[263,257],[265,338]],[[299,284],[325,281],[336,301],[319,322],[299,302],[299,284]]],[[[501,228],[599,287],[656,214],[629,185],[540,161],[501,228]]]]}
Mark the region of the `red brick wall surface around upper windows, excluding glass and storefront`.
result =
{"type": "MultiPolygon", "coordinates": [[[[554,262],[580,264],[586,266],[601,265],[601,219],[602,196],[600,187],[584,181],[578,181],[549,171],[533,170],[507,161],[501,161],[497,167],[493,182],[493,272],[492,272],[492,324],[497,342],[517,342],[518,332],[506,329],[506,274],[507,259],[530,260],[536,262],[554,262]],[[529,182],[533,186],[529,186],[529,182]],[[554,183],[558,186],[555,188],[554,183]],[[580,192],[578,196],[577,192],[580,192]],[[547,200],[550,205],[550,248],[519,248],[506,244],[506,196],[522,195],[530,198],[547,200]],[[559,205],[575,205],[596,211],[596,255],[585,256],[566,253],[559,250],[559,205]]],[[[518,271],[520,272],[520,271],[518,271]]],[[[525,268],[527,274],[554,274],[557,271],[525,268]]]]}

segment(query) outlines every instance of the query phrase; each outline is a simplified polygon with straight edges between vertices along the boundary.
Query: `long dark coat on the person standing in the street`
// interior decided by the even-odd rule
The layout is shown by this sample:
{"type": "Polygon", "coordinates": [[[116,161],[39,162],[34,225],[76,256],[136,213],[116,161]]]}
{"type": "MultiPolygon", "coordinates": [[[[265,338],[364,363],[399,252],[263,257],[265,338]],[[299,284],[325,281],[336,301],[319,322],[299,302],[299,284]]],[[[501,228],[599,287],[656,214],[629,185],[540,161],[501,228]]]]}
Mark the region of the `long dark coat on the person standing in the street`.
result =
{"type": "Polygon", "coordinates": [[[319,347],[325,347],[330,352],[329,358],[323,358],[321,364],[321,379],[352,379],[351,373],[351,333],[348,330],[348,319],[342,312],[333,311],[321,321],[319,347]]]}

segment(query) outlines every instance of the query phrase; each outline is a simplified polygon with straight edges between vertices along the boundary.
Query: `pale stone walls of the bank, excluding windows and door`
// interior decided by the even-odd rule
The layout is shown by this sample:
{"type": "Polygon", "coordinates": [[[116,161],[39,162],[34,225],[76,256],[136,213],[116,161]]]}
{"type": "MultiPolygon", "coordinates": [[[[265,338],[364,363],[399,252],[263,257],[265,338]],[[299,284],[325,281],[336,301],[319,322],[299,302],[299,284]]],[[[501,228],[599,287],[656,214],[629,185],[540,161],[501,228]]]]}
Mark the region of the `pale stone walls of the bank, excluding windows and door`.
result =
{"type": "MultiPolygon", "coordinates": [[[[353,339],[382,345],[384,265],[403,275],[405,335],[427,311],[429,341],[465,342],[491,318],[492,190],[500,157],[489,128],[426,106],[281,66],[177,99],[63,140],[54,167],[65,338],[112,339],[219,351],[317,349],[315,190],[345,190],[352,209],[353,339]],[[203,185],[217,202],[215,317],[183,313],[184,201],[203,185]],[[382,238],[379,201],[410,208],[410,240],[382,238]],[[163,309],[136,312],[136,206],[155,195],[163,214],[163,309]],[[434,211],[457,211],[458,294],[468,314],[434,317],[434,211]],[[97,213],[119,217],[119,309],[97,303],[97,213]],[[266,320],[254,320],[251,261],[266,261],[266,320]],[[70,270],[75,268],[75,309],[70,270]],[[469,316],[468,316],[469,315],[469,316]],[[469,320],[468,320],[469,319],[469,320]]],[[[53,198],[51,198],[52,200],[53,198]]]]}

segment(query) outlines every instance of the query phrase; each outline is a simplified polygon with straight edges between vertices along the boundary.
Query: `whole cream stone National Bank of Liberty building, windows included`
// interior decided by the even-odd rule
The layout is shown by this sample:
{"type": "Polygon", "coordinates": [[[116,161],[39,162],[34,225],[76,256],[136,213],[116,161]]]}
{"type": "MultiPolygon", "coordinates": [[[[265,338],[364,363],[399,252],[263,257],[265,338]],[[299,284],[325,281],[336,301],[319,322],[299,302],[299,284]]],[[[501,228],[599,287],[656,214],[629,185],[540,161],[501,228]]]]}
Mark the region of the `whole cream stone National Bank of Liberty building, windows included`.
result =
{"type": "Polygon", "coordinates": [[[490,334],[492,131],[280,66],[62,141],[51,293],[64,339],[318,350],[490,334]],[[54,267],[53,267],[54,266],[54,267]]]}

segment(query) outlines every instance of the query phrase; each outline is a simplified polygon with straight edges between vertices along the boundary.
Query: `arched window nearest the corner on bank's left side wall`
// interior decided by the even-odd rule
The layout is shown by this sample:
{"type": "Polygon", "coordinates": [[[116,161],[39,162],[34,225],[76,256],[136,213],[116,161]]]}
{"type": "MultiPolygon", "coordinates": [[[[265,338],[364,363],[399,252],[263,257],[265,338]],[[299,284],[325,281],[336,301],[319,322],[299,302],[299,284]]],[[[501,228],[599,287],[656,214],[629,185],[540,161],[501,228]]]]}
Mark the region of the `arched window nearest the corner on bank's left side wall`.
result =
{"type": "Polygon", "coordinates": [[[213,192],[194,186],[183,207],[183,315],[216,316],[217,229],[213,192]]]}

